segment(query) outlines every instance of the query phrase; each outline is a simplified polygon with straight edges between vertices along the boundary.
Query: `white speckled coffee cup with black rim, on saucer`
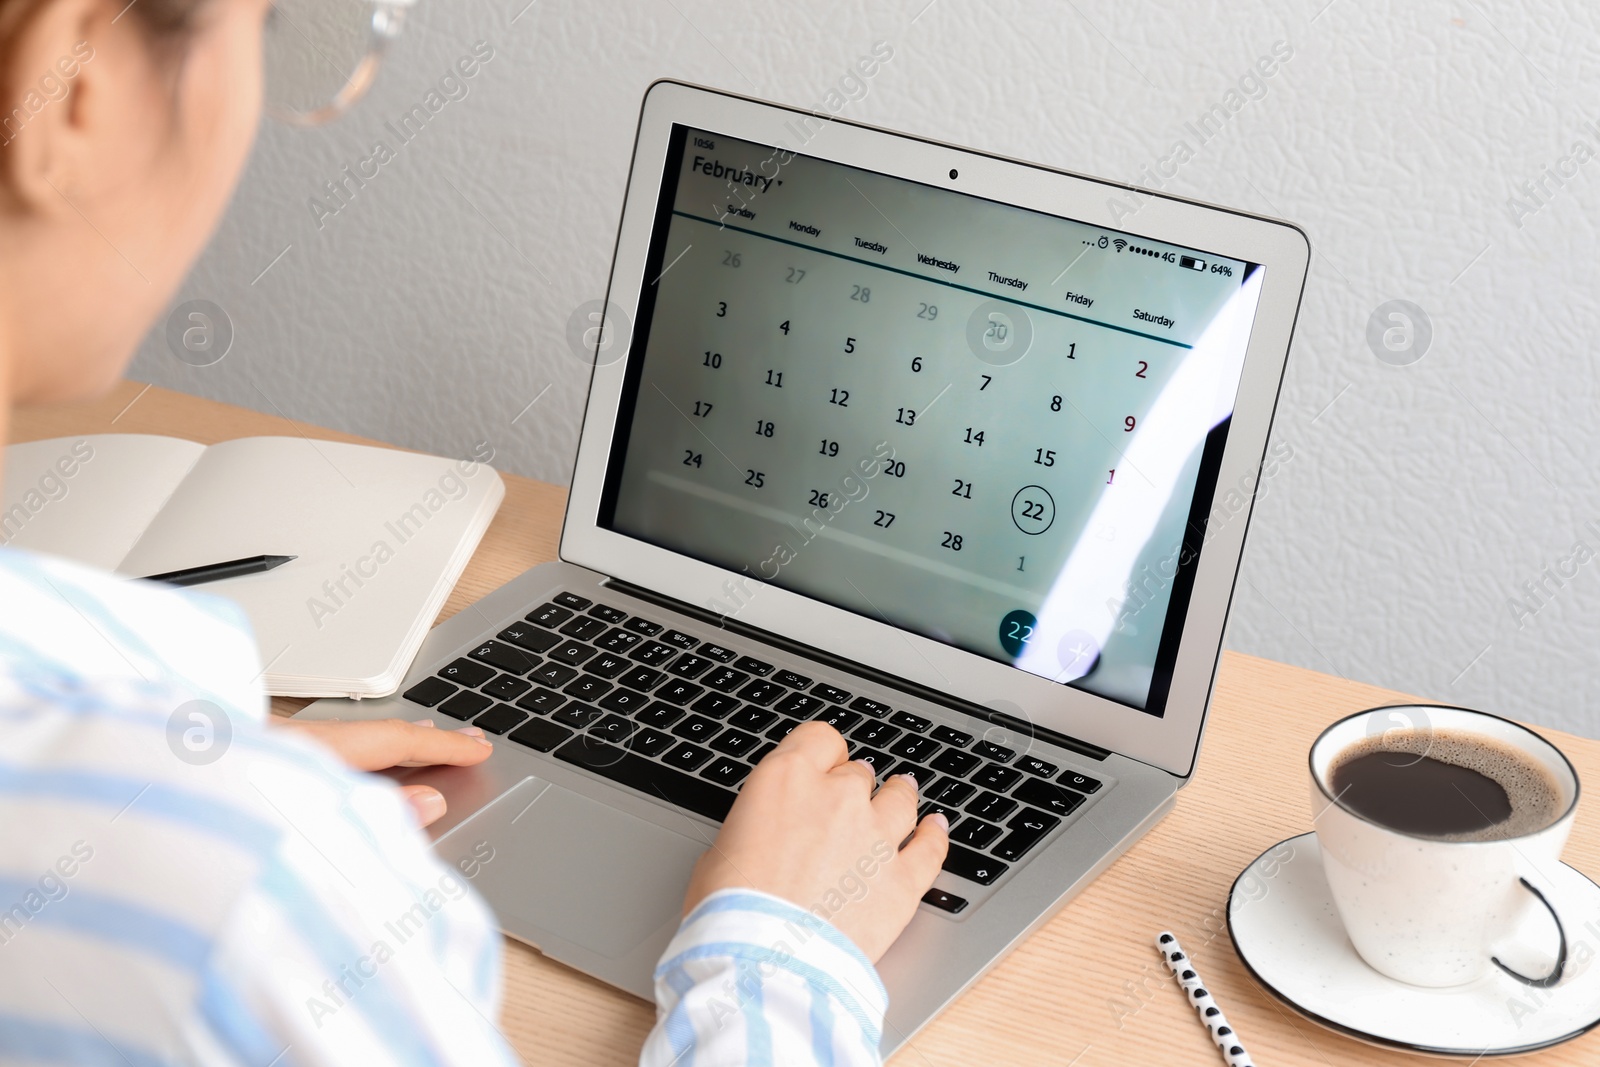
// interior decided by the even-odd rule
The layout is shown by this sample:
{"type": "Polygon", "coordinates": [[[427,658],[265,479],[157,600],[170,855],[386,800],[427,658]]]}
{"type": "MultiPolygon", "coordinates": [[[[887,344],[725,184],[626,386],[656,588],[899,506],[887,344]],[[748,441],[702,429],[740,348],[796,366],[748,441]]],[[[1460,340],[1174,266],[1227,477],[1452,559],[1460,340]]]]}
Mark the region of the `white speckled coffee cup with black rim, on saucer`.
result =
{"type": "MultiPolygon", "coordinates": [[[[1341,718],[1310,747],[1312,822],[1344,929],[1376,971],[1411,985],[1461,985],[1498,966],[1549,987],[1566,961],[1566,933],[1550,904],[1549,872],[1578,811],[1578,773],[1560,749],[1507,718],[1462,707],[1394,705],[1341,718]],[[1549,771],[1562,813],[1549,825],[1494,841],[1416,837],[1373,822],[1334,798],[1330,771],[1350,745],[1389,729],[1477,734],[1549,771]],[[1544,905],[1554,931],[1549,973],[1523,974],[1496,955],[1525,909],[1544,905]],[[1557,944],[1558,942],[1558,944],[1557,944]]],[[[1526,957],[1526,950],[1522,953],[1526,957]]]]}

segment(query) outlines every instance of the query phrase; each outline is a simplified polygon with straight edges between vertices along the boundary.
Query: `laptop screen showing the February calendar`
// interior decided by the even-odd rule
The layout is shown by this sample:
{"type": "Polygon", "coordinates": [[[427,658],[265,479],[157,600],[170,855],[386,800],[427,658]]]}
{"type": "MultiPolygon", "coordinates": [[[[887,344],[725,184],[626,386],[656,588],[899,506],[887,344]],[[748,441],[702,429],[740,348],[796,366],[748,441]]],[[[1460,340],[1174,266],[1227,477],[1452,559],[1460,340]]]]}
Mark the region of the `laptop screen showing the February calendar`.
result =
{"type": "Polygon", "coordinates": [[[1261,278],[674,126],[598,522],[1160,715],[1261,278]]]}

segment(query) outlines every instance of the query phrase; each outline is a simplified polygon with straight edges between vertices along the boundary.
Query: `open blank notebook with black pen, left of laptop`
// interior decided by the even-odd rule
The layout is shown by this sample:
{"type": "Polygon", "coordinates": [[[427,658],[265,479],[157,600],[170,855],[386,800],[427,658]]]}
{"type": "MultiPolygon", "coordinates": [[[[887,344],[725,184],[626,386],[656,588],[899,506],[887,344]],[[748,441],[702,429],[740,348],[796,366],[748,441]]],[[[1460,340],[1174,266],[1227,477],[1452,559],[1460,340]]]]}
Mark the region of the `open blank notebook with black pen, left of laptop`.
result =
{"type": "Polygon", "coordinates": [[[5,450],[0,544],[130,577],[298,557],[195,590],[250,614],[267,693],[387,696],[504,496],[474,459],[302,437],[64,437],[5,450]]]}

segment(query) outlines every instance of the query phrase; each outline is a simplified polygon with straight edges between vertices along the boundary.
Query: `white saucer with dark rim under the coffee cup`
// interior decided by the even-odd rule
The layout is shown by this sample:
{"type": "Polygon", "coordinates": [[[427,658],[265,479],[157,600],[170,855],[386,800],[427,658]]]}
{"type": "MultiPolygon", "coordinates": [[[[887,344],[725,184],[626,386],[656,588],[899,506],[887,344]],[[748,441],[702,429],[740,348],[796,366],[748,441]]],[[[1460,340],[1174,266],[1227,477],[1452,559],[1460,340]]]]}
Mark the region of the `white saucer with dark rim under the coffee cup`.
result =
{"type": "MultiPolygon", "coordinates": [[[[1600,886],[1560,864],[1550,904],[1566,928],[1566,971],[1531,989],[1490,968],[1453,989],[1384,977],[1355,953],[1322,873],[1315,833],[1274,845],[1234,881],[1227,931],[1245,968],[1269,993],[1347,1037],[1429,1056],[1517,1056],[1600,1025],[1600,886]]],[[[1523,974],[1544,974],[1557,933],[1528,909],[1501,950],[1523,974]]]]}

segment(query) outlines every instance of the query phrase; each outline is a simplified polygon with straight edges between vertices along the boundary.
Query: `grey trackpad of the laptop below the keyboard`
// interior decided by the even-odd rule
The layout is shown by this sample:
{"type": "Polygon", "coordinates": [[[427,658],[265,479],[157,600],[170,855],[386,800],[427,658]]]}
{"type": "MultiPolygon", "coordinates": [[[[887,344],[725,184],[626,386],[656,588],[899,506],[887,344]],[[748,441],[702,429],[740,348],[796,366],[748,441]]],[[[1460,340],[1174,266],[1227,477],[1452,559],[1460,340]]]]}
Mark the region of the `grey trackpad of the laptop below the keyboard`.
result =
{"type": "Polygon", "coordinates": [[[614,960],[677,926],[706,841],[530,776],[435,848],[477,869],[470,881],[509,933],[546,947],[531,926],[614,960]]]}

